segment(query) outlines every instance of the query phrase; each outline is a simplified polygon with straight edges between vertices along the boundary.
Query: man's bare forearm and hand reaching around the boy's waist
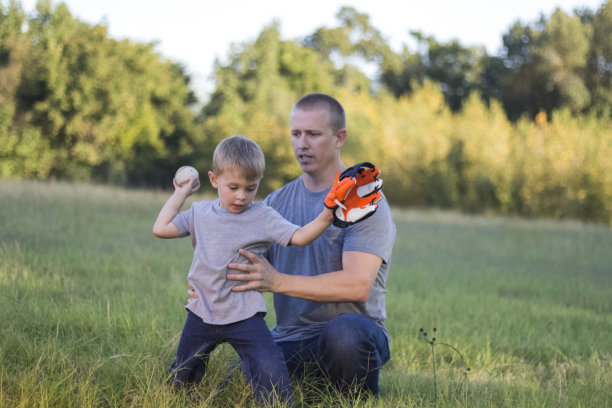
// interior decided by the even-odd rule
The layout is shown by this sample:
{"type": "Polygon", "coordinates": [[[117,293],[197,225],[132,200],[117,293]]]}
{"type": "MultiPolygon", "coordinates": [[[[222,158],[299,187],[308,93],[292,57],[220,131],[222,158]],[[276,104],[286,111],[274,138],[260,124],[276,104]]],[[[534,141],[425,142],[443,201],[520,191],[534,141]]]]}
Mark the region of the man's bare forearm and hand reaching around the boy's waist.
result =
{"type": "Polygon", "coordinates": [[[228,275],[228,280],[246,281],[235,292],[257,290],[274,292],[316,302],[365,302],[378,275],[382,259],[366,252],[342,253],[343,269],[316,276],[287,275],[278,272],[262,256],[241,249],[252,264],[229,264],[246,274],[228,275]]]}

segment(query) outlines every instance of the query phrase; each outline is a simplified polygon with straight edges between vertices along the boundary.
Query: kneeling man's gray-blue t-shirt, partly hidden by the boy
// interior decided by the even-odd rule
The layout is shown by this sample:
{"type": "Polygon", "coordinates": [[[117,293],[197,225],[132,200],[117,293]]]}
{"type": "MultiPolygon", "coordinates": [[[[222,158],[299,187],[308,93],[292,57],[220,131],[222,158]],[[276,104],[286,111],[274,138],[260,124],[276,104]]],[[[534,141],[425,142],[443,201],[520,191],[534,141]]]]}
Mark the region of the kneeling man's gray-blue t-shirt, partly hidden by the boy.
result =
{"type": "MultiPolygon", "coordinates": [[[[299,177],[270,194],[264,201],[285,219],[303,225],[323,210],[329,190],[313,193],[304,187],[299,177]]],[[[342,252],[359,251],[379,256],[383,262],[366,302],[321,303],[274,294],[276,326],[272,335],[276,340],[295,341],[318,335],[323,326],[341,313],[359,313],[370,317],[385,328],[385,293],[391,251],[395,241],[395,224],[387,200],[378,203],[371,217],[347,228],[330,226],[312,244],[304,247],[280,248],[273,245],[269,259],[282,273],[313,276],[342,270],[342,252]]]]}

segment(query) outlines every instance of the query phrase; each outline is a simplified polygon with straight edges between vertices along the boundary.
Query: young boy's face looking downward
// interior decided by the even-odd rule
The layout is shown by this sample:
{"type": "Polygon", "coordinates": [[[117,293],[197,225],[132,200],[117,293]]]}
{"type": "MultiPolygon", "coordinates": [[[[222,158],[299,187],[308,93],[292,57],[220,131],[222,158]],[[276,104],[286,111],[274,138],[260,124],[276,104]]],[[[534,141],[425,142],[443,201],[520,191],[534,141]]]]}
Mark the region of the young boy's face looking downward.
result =
{"type": "Polygon", "coordinates": [[[225,170],[216,175],[208,172],[210,184],[219,193],[221,207],[238,214],[244,211],[255,198],[261,180],[247,180],[238,170],[225,170]]]}

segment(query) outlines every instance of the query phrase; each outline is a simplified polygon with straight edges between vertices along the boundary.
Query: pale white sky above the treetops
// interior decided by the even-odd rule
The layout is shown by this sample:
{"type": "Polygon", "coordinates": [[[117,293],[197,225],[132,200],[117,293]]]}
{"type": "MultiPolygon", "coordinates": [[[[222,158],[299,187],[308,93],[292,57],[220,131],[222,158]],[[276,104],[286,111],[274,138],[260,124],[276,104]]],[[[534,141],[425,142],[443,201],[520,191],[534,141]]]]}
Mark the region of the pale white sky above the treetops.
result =
{"type": "MultiPolygon", "coordinates": [[[[51,0],[57,4],[58,0],[51,0]]],[[[213,88],[215,58],[226,61],[232,43],[254,41],[277,21],[281,38],[301,39],[319,27],[336,27],[342,6],[370,16],[396,52],[411,48],[410,31],[439,42],[459,40],[462,46],[484,46],[497,54],[502,35],[517,20],[531,23],[558,7],[597,10],[605,0],[64,0],[73,16],[104,24],[116,39],[156,42],[165,58],[183,64],[194,91],[205,101],[213,88]]],[[[22,0],[27,12],[36,0],[22,0]]],[[[412,44],[414,47],[414,44],[412,44]]]]}

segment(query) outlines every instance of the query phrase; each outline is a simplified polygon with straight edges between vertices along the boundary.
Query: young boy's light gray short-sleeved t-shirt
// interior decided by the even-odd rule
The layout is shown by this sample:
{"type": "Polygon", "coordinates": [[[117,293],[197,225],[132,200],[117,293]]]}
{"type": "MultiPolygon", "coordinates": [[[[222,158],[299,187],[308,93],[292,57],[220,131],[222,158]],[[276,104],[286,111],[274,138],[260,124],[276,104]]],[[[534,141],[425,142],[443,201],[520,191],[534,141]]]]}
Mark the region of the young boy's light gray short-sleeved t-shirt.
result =
{"type": "MultiPolygon", "coordinates": [[[[310,222],[311,220],[309,220],[310,222]]],[[[263,295],[257,291],[232,292],[241,284],[228,281],[231,262],[250,263],[238,254],[240,248],[264,254],[273,243],[288,246],[293,233],[300,228],[285,220],[263,202],[251,203],[246,210],[234,214],[216,201],[199,201],[179,213],[173,224],[181,237],[190,235],[193,261],[187,280],[198,298],[186,308],[205,323],[229,324],[266,312],[263,295]]]]}

